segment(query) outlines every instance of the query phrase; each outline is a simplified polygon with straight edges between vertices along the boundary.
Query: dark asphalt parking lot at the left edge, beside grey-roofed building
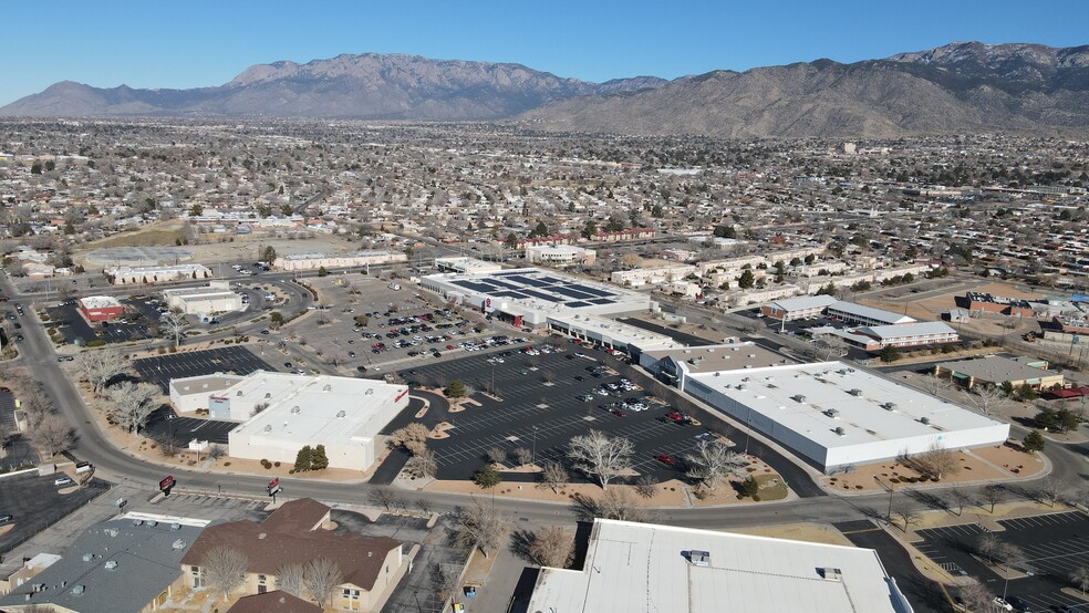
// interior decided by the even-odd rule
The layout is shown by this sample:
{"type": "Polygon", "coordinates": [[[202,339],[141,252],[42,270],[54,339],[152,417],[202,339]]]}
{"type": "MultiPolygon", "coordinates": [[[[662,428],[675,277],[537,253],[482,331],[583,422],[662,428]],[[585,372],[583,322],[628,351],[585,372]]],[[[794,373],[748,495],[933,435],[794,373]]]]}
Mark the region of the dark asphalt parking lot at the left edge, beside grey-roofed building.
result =
{"type": "Polygon", "coordinates": [[[56,478],[64,476],[59,472],[39,477],[31,472],[0,480],[0,515],[13,516],[14,523],[10,532],[0,536],[0,555],[108,489],[103,481],[92,480],[89,487],[61,493],[60,490],[72,487],[54,484],[56,478]]]}

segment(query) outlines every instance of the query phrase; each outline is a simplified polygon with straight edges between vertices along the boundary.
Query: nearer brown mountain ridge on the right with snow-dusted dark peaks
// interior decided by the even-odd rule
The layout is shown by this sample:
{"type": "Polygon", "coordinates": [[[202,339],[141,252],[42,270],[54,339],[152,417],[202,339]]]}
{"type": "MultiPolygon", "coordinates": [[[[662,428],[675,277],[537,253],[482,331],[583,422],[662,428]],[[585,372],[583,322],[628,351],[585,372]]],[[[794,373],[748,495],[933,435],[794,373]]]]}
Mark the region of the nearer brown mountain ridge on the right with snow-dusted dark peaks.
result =
{"type": "Polygon", "coordinates": [[[1089,48],[953,43],[888,60],[716,71],[653,91],[556,101],[549,131],[725,137],[1089,134],[1089,48]]]}

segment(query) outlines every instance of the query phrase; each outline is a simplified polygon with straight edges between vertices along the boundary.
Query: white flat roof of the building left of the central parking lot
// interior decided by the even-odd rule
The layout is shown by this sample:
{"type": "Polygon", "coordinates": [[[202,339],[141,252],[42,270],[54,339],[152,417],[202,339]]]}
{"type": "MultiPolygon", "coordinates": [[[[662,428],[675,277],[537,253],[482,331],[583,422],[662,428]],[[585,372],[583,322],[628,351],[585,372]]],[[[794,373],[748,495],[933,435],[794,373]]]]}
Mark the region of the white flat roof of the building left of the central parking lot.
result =
{"type": "MultiPolygon", "coordinates": [[[[232,430],[232,435],[299,440],[343,441],[373,438],[388,423],[388,409],[405,385],[369,378],[307,376],[260,371],[224,391],[257,394],[269,407],[232,430]]],[[[248,398],[251,399],[251,398],[248,398]]]]}

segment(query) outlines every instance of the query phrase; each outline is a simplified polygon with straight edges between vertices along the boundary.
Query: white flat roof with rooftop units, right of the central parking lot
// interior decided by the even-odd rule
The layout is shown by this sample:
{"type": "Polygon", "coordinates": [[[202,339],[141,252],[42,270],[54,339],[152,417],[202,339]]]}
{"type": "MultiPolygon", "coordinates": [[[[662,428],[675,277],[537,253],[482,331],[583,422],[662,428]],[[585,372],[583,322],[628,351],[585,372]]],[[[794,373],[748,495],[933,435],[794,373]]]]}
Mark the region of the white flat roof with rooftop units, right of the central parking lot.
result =
{"type": "Polygon", "coordinates": [[[826,449],[1002,425],[842,362],[697,373],[689,380],[826,449]],[[851,393],[854,389],[858,395],[851,393]],[[895,403],[893,411],[882,406],[889,402],[895,403]],[[828,409],[837,415],[826,415],[828,409]],[[924,417],[929,424],[920,420],[924,417]],[[834,432],[840,427],[842,435],[834,432]]]}

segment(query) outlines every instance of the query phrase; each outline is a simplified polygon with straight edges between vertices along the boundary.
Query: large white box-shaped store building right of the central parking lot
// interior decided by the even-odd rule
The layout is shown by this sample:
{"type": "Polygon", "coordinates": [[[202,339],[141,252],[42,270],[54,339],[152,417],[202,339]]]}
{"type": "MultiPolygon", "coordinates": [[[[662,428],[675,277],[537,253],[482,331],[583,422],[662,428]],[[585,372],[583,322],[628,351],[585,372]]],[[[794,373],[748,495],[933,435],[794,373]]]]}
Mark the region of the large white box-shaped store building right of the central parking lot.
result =
{"type": "Polygon", "coordinates": [[[694,373],[680,384],[826,472],[1009,436],[1009,424],[842,362],[694,373]]]}

